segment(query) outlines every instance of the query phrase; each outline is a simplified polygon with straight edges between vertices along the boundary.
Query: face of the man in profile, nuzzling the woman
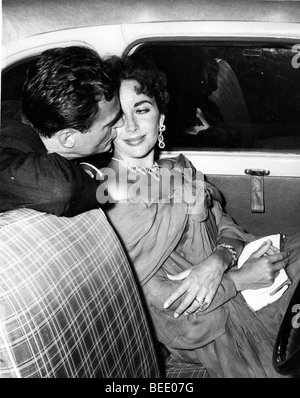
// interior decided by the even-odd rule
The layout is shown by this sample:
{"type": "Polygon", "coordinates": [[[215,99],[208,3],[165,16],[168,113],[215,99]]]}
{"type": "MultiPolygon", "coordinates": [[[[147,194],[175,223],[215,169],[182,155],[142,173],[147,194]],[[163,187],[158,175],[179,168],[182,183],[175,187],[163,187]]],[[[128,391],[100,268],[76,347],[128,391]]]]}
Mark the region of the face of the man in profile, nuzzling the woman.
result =
{"type": "Polygon", "coordinates": [[[89,156],[107,152],[116,137],[116,127],[123,124],[120,102],[117,96],[111,101],[102,100],[98,103],[99,116],[86,133],[79,133],[74,148],[78,156],[89,156]]]}

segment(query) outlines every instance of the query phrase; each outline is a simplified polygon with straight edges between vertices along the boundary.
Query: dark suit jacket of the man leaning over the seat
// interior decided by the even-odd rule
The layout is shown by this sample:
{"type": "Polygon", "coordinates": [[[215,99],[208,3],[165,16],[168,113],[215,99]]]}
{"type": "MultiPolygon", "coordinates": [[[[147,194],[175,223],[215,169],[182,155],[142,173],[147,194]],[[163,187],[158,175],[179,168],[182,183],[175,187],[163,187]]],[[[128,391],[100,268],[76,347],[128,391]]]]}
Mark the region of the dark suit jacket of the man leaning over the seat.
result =
{"type": "Polygon", "coordinates": [[[99,182],[76,162],[56,153],[47,154],[38,134],[17,119],[13,108],[4,103],[0,133],[0,212],[27,207],[70,217],[99,207],[96,198],[99,182]]]}

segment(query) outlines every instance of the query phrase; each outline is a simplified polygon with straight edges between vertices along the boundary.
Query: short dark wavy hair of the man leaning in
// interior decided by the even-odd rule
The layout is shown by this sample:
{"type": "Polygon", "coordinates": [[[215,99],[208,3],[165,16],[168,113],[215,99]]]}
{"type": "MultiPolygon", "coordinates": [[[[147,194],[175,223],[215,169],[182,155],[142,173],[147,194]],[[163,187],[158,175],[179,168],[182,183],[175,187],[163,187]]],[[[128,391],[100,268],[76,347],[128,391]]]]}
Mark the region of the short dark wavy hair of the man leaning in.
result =
{"type": "Polygon", "coordinates": [[[25,122],[44,137],[74,128],[84,133],[117,87],[109,66],[93,50],[72,46],[44,51],[30,65],[22,94],[25,122]]]}

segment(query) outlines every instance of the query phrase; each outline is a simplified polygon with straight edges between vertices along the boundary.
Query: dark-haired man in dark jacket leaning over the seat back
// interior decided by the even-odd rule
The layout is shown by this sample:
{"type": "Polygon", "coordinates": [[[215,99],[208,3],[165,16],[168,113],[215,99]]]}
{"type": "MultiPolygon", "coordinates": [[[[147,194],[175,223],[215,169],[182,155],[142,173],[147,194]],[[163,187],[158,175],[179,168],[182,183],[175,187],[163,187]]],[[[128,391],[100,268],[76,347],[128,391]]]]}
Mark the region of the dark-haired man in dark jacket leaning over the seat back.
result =
{"type": "Polygon", "coordinates": [[[73,216],[99,206],[99,182],[74,159],[108,151],[122,119],[117,87],[96,52],[43,52],[27,72],[23,123],[11,107],[2,111],[1,212],[28,207],[73,216]]]}

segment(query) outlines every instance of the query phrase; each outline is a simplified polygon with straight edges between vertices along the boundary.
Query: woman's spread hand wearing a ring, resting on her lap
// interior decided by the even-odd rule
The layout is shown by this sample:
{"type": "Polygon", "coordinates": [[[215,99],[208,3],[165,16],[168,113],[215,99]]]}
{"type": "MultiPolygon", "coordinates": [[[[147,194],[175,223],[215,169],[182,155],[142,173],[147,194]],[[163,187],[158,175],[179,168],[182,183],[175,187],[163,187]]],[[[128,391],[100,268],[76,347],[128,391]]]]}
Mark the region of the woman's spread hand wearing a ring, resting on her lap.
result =
{"type": "Polygon", "coordinates": [[[214,252],[200,264],[177,275],[168,275],[170,280],[183,280],[183,282],[165,301],[164,308],[170,307],[179,297],[186,294],[175,310],[175,318],[183,312],[191,314],[197,310],[204,310],[212,302],[226,268],[226,263],[214,252]]]}

